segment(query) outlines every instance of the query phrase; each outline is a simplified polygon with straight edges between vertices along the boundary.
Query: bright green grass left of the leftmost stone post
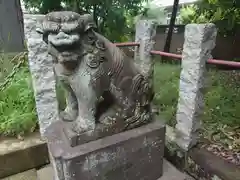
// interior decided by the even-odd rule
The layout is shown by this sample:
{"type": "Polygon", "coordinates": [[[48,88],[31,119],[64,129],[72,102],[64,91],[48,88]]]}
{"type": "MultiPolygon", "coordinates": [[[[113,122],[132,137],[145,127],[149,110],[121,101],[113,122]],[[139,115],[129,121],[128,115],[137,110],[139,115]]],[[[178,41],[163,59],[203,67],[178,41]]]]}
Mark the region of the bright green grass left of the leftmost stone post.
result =
{"type": "Polygon", "coordinates": [[[32,132],[36,128],[36,120],[30,73],[25,65],[0,92],[0,135],[15,136],[32,132]]]}

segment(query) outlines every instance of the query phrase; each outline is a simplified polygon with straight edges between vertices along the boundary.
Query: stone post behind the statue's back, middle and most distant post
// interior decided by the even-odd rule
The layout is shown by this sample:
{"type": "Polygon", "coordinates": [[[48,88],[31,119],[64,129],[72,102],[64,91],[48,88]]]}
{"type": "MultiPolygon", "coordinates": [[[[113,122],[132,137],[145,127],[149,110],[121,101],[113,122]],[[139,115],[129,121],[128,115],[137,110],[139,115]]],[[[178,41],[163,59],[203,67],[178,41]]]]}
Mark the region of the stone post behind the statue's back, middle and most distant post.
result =
{"type": "Polygon", "coordinates": [[[136,24],[135,42],[140,43],[135,48],[134,60],[143,73],[153,75],[154,61],[150,54],[154,46],[156,23],[153,20],[140,20],[136,24]]]}

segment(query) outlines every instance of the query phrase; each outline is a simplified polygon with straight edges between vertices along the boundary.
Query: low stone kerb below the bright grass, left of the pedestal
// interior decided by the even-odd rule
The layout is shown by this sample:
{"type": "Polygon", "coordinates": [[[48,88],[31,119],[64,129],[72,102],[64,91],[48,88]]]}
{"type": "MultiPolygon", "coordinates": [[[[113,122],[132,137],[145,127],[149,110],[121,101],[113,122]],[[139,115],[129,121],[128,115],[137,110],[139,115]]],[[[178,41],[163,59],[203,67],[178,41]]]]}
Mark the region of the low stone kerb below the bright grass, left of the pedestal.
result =
{"type": "Polygon", "coordinates": [[[38,133],[24,141],[7,138],[0,141],[0,178],[49,163],[48,149],[38,133]]]}

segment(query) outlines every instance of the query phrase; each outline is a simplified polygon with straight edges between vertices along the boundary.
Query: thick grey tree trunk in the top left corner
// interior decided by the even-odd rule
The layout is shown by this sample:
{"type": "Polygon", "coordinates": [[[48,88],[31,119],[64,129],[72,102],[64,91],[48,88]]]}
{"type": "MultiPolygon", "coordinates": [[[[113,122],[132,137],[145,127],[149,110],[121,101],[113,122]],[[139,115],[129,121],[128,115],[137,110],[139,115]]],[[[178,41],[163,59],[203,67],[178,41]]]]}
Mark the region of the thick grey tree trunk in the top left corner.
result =
{"type": "Polygon", "coordinates": [[[24,51],[23,13],[20,0],[0,0],[1,51],[24,51]]]}

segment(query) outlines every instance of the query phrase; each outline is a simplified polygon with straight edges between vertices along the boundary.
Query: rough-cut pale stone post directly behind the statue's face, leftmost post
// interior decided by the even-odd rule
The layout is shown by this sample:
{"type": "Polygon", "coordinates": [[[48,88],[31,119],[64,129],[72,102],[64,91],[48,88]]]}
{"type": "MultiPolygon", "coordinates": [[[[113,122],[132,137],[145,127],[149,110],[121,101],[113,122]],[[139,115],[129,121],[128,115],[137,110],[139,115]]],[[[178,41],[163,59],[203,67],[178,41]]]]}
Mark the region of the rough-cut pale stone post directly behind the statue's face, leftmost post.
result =
{"type": "Polygon", "coordinates": [[[36,32],[43,17],[43,15],[24,15],[28,61],[42,137],[44,137],[45,129],[52,122],[58,120],[56,81],[52,58],[47,53],[47,45],[43,42],[42,36],[36,32]]]}

